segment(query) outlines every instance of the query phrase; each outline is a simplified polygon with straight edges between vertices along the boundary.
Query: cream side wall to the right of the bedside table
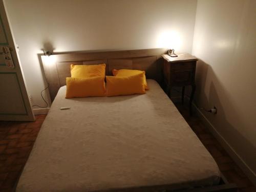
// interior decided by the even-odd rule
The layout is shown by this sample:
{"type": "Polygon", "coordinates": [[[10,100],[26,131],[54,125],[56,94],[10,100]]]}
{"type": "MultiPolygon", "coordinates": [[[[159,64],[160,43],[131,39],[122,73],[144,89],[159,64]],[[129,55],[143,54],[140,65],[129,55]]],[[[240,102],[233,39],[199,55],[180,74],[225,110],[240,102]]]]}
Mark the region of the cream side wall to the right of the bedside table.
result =
{"type": "Polygon", "coordinates": [[[196,102],[256,178],[256,1],[199,0],[196,102]]]}

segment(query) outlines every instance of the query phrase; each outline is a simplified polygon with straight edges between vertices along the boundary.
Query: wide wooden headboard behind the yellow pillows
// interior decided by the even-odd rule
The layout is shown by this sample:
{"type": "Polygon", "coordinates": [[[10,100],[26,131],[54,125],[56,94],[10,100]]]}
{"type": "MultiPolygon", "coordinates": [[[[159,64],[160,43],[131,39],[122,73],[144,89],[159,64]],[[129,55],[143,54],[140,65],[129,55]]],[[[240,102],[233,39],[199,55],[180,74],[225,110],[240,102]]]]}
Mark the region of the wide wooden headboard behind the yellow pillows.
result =
{"type": "Polygon", "coordinates": [[[66,77],[70,77],[70,65],[106,64],[106,75],[112,75],[113,69],[137,69],[146,72],[146,78],[162,81],[162,54],[167,49],[143,49],[108,52],[77,52],[41,56],[45,76],[49,82],[51,100],[55,98],[59,88],[66,85],[66,77]]]}

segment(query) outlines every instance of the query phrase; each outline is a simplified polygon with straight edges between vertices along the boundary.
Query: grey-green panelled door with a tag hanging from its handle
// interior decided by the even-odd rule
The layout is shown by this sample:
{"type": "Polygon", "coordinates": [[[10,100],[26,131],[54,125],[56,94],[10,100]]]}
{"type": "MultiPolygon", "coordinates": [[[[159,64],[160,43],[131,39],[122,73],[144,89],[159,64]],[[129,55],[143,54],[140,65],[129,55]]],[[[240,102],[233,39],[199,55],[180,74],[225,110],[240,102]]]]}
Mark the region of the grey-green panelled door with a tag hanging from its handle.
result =
{"type": "Polygon", "coordinates": [[[15,45],[4,2],[0,0],[0,120],[32,121],[35,118],[15,45]],[[10,49],[14,69],[6,65],[4,46],[10,49]]]}

